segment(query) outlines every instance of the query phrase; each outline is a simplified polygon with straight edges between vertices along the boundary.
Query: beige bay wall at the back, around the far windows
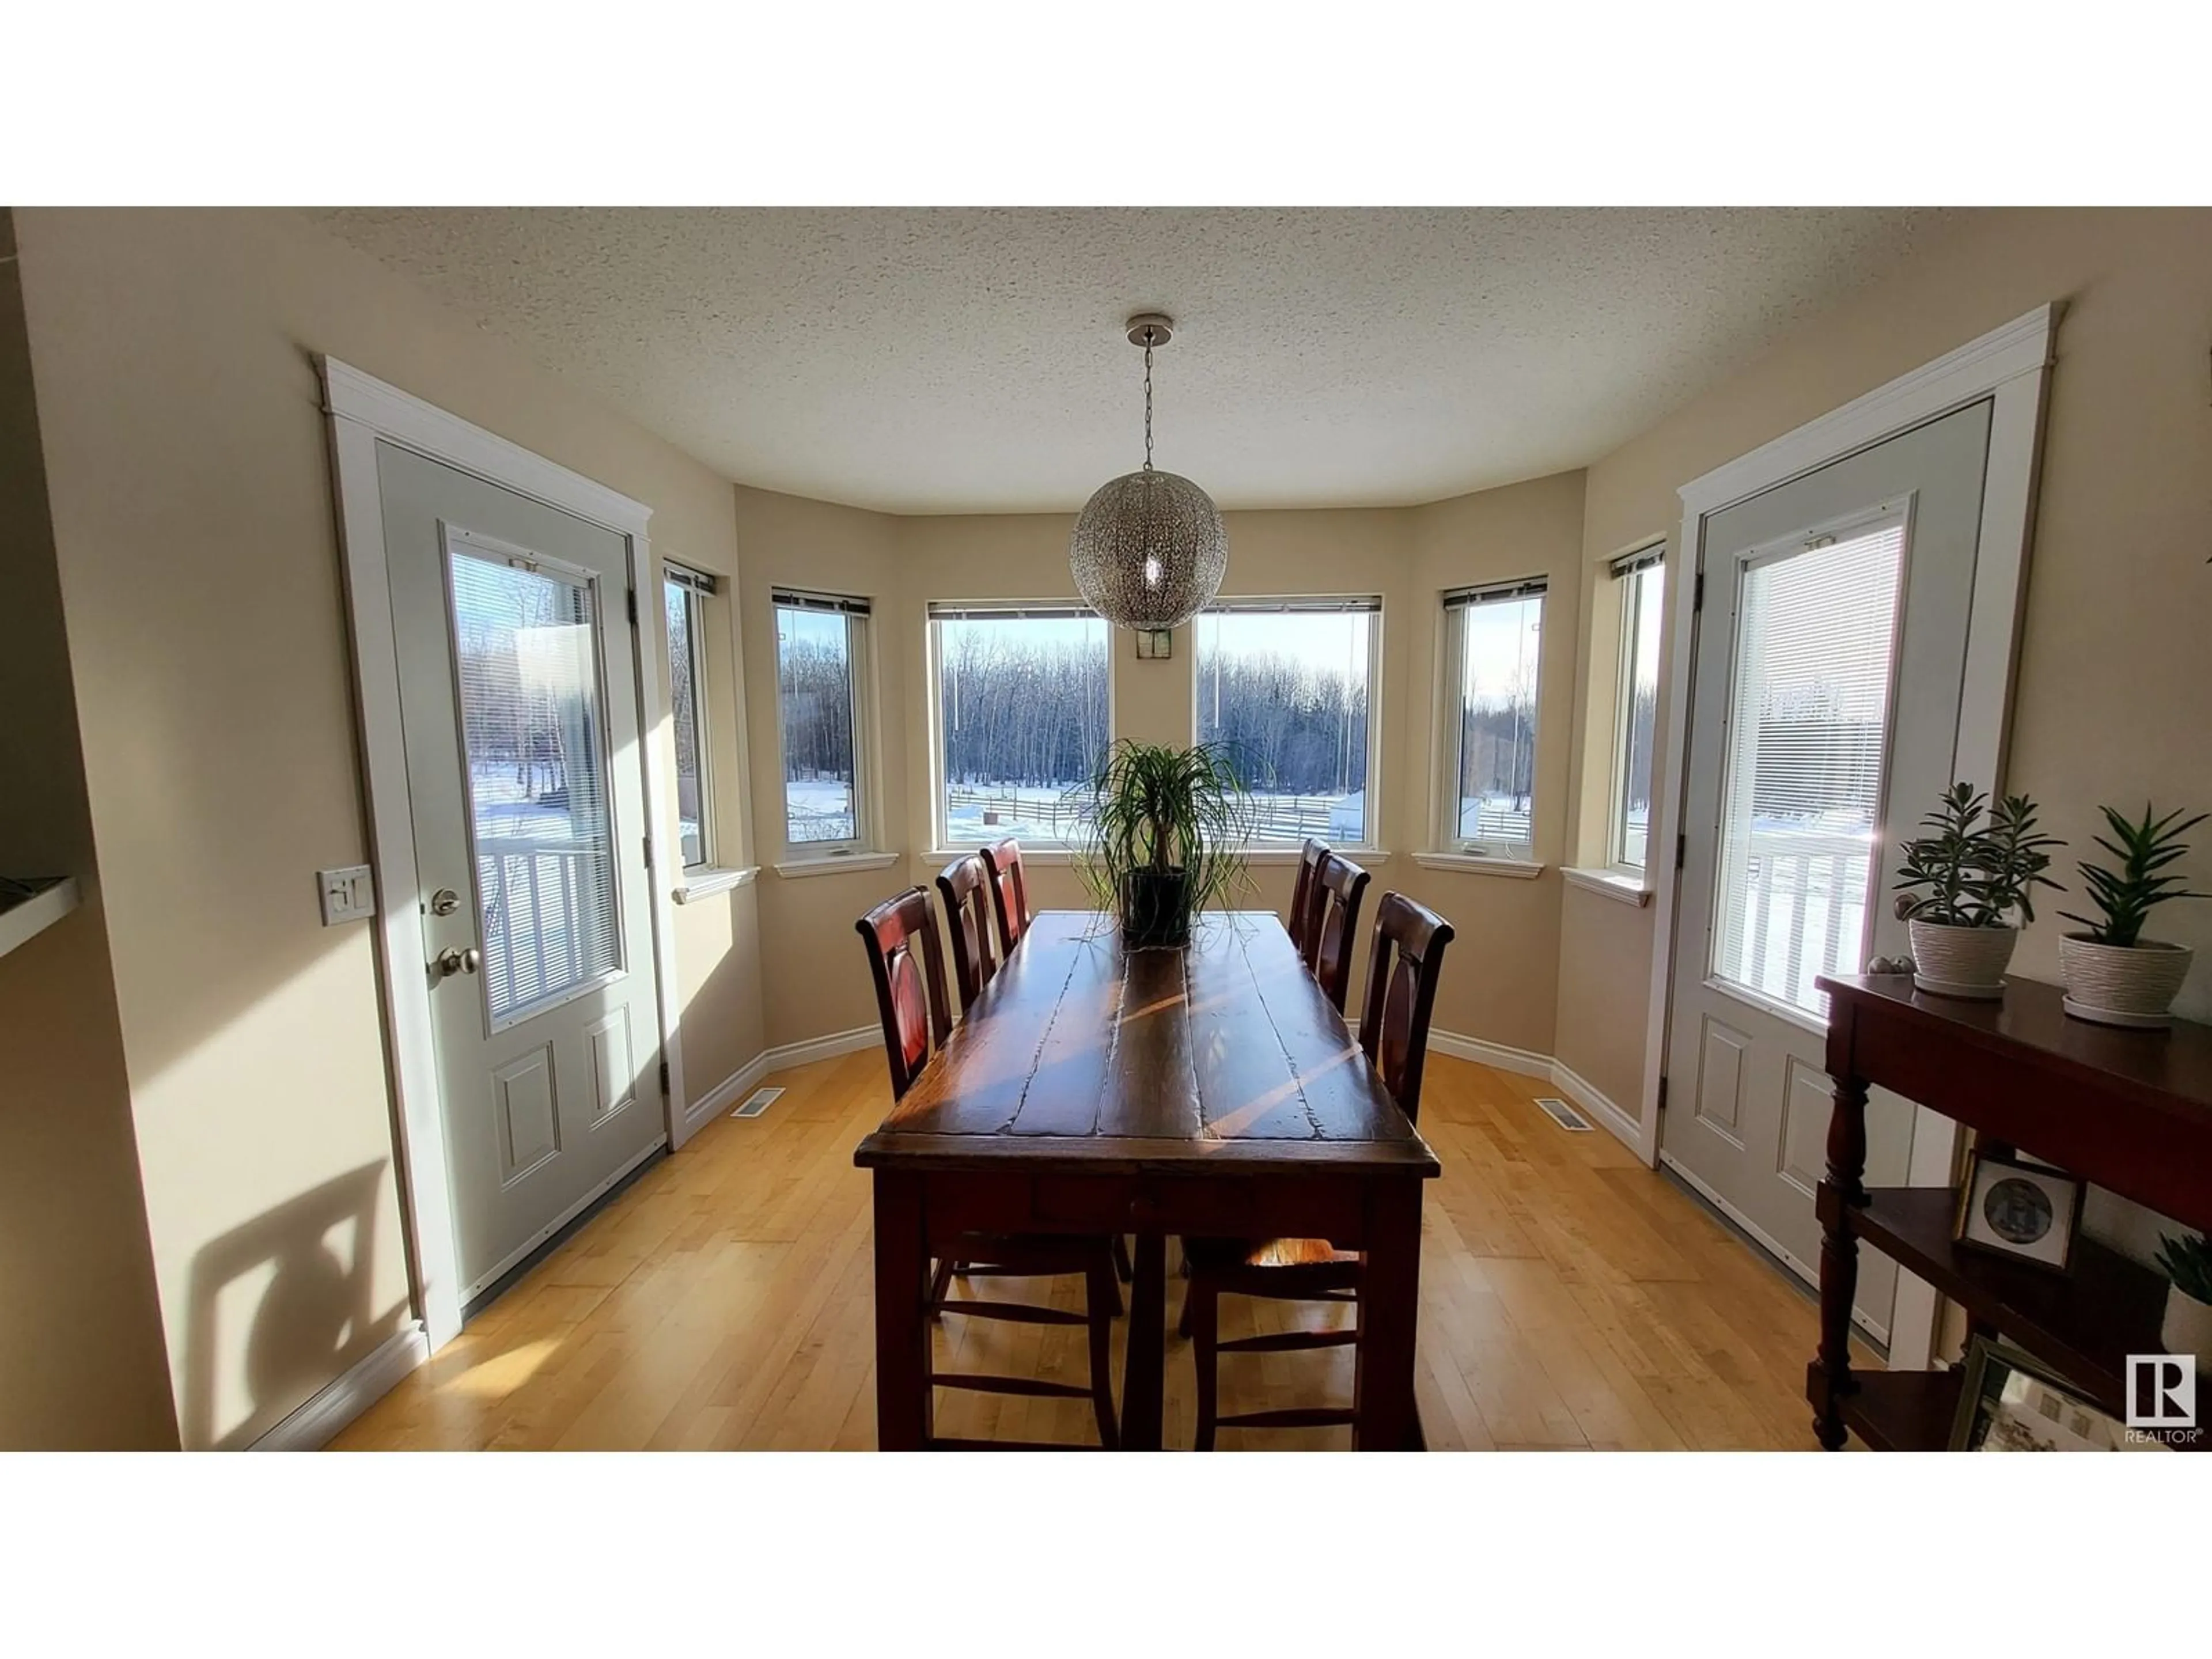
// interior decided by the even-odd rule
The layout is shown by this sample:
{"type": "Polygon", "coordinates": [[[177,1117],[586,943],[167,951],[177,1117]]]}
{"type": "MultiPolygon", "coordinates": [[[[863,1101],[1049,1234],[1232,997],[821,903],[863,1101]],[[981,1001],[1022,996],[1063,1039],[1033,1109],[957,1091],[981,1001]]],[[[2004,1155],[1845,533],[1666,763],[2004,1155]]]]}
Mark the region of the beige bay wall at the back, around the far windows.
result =
{"type": "MultiPolygon", "coordinates": [[[[745,568],[745,661],[752,710],[754,825],[761,847],[781,845],[774,712],[774,628],[765,615],[776,582],[863,593],[880,710],[880,796],[891,805],[880,845],[902,867],[807,878],[763,872],[763,949],[779,964],[768,982],[768,1042],[790,1044],[867,1026],[874,1002],[858,971],[852,918],[900,885],[929,885],[942,865],[933,847],[929,624],[931,599],[1073,597],[1073,515],[887,518],[821,502],[739,489],[745,568]],[[781,971],[790,964],[790,973],[781,971]]],[[[1440,502],[1425,509],[1228,513],[1228,595],[1378,593],[1383,657],[1378,739],[1383,779],[1369,858],[1374,894],[1398,887],[1436,905],[1467,940],[1449,973],[1438,1024],[1515,1048],[1548,1053],[1557,982],[1557,872],[1520,883],[1418,869],[1411,852],[1431,832],[1431,741],[1436,728],[1438,595],[1504,575],[1546,573],[1557,615],[1579,593],[1582,476],[1440,502]]],[[[1557,639],[1573,641],[1562,628],[1557,639]]],[[[1130,635],[1113,644],[1113,730],[1152,743],[1188,743],[1194,719],[1192,628],[1177,630],[1175,657],[1137,661],[1130,635]]],[[[1557,860],[1564,838],[1568,728],[1575,664],[1555,646],[1544,664],[1540,741],[1540,852],[1557,860]]],[[[772,852],[768,856],[774,856],[772,852]]],[[[1294,872],[1252,869],[1243,900],[1283,909],[1294,872]]],[[[1040,905],[1082,905],[1064,860],[1033,860],[1040,905]]],[[[1365,929],[1363,929],[1365,931],[1365,929]]],[[[1356,958],[1363,973],[1365,945],[1356,958]]],[[[1358,989],[1354,989],[1354,1002],[1358,989]]]]}

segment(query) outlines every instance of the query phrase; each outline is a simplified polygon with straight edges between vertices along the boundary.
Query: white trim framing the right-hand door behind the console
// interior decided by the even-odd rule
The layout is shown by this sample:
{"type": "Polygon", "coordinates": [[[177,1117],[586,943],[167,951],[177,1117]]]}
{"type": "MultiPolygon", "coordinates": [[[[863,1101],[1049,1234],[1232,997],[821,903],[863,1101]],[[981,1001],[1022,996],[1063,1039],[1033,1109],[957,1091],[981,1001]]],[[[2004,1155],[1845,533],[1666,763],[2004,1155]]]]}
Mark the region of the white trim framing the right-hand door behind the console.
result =
{"type": "MultiPolygon", "coordinates": [[[[1681,834],[1686,763],[1690,754],[1690,666],[1697,655],[1694,593],[1705,553],[1705,520],[1736,502],[1761,495],[1794,478],[1898,436],[1938,416],[1993,398],[1989,422],[1989,469],[1982,482],[1982,529],[1973,564],[1973,613],[1966,630],[1966,677],[1960,688],[1958,748],[1951,774],[1986,790],[2004,783],[2006,714],[2013,699],[2013,664],[2020,646],[2020,597],[2035,531],[2035,482],[2042,449],[2044,400],[2051,383],[2053,343],[2062,303],[2037,305],[1975,341],[1947,352],[1889,385],[1807,420],[1796,431],[1714,467],[1681,487],[1677,533],[1679,580],[1668,584],[1668,732],[1652,847],[1666,849],[1681,834]]],[[[1663,854],[1661,854],[1663,856],[1663,854]]],[[[1677,880],[1659,880],[1652,920],[1652,980],[1644,1024],[1644,1099],[1637,1152],[1659,1161],[1659,1077],[1666,1066],[1668,993],[1674,978],[1677,880]]],[[[1913,1126],[1909,1181],[1940,1186],[1951,1179],[1955,1124],[1927,1108],[1913,1126]]],[[[1891,1365],[1920,1369],[1929,1363],[1936,1334],[1936,1292],[1911,1274],[1898,1274],[1891,1316],[1891,1365]]]]}

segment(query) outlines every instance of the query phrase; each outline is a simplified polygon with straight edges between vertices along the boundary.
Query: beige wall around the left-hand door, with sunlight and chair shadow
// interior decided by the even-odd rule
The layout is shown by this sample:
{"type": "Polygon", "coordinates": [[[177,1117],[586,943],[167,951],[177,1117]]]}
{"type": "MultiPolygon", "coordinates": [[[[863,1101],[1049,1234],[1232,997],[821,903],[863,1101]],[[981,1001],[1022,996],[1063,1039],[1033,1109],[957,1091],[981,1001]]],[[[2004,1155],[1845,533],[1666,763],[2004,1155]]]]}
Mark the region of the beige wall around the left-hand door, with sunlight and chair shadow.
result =
{"type": "MultiPolygon", "coordinates": [[[[407,1314],[369,929],[323,929],[312,880],[367,856],[312,354],[648,502],[659,551],[723,573],[730,487],[294,215],[18,234],[177,1409],[239,1444],[407,1314]]],[[[752,902],[679,920],[699,1091],[754,1042],[723,947],[752,902]]]]}

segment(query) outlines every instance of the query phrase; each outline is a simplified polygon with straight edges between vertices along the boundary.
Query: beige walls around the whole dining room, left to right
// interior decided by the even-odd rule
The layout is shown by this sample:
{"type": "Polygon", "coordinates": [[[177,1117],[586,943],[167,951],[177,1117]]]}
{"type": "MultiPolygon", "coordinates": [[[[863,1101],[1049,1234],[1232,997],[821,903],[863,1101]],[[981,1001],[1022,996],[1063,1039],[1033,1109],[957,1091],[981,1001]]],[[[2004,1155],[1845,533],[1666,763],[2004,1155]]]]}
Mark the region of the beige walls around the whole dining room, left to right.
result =
{"type": "MultiPolygon", "coordinates": [[[[82,807],[53,856],[97,865],[100,880],[42,958],[0,962],[13,1091],[0,1225],[31,1228],[9,1234],[0,1287],[9,1307],[53,1321],[97,1283],[113,1323],[86,1349],[102,1356],[100,1387],[0,1367],[0,1436],[15,1411],[58,1440],[161,1442],[166,1371],[184,1440],[237,1444],[374,1347],[407,1303],[369,936],[323,929],[310,880],[365,856],[312,354],[637,495],[655,507],[661,555],[730,577],[708,653],[719,860],[763,874],[675,911],[692,1099],[763,1046],[874,1022],[852,920],[936,872],[925,604],[1068,595],[1068,518],[889,518],[732,487],[292,215],[27,210],[18,234],[53,553],[44,602],[35,571],[9,573],[31,582],[11,617],[31,653],[13,661],[42,648],[31,677],[51,695],[58,586],[73,706],[66,726],[18,719],[9,739],[46,743],[64,774],[82,739],[82,807]],[[889,869],[774,872],[779,582],[876,599],[872,776],[880,845],[900,856],[889,869]],[[11,989],[22,960],[42,973],[11,989]],[[33,1051],[33,1033],[53,1046],[33,1051]],[[40,1079],[80,1091],[66,1148],[40,1079]],[[86,1225],[102,1217],[119,1221],[86,1225]],[[40,1250],[53,1272],[15,1272],[40,1250]]],[[[1650,911],[1557,874],[1590,856],[1601,799],[1593,726],[1610,703],[1584,661],[1613,641],[1595,562],[1672,529],[1681,482],[2046,299],[2073,307],[2011,781],[2077,845],[2101,799],[2212,805],[2199,648],[2212,628],[2208,292],[2212,215],[1975,215],[1588,476],[1413,509],[1232,513],[1230,593],[1385,597],[1374,805],[1389,858],[1376,887],[1460,929],[1438,1026],[1557,1053],[1635,1110],[1650,911]],[[1433,841],[1436,595],[1533,573],[1553,595],[1535,801],[1546,872],[1416,867],[1409,854],[1433,841]]],[[[22,409],[0,409],[15,422],[9,489],[35,498],[22,409]]],[[[1135,661],[1117,637],[1113,672],[1117,734],[1188,741],[1188,628],[1168,664],[1135,661]]],[[[1040,902],[1079,902],[1064,867],[1035,880],[1040,902]]],[[[1261,867],[1256,883],[1256,902],[1281,905],[1290,869],[1261,867]]],[[[2055,971],[2057,929],[2031,929],[2024,971],[2055,971]]],[[[2212,905],[2170,909],[2161,931],[2212,947],[2212,905]]],[[[2212,973],[2199,969],[2183,1006],[2212,1006],[2212,973]]]]}

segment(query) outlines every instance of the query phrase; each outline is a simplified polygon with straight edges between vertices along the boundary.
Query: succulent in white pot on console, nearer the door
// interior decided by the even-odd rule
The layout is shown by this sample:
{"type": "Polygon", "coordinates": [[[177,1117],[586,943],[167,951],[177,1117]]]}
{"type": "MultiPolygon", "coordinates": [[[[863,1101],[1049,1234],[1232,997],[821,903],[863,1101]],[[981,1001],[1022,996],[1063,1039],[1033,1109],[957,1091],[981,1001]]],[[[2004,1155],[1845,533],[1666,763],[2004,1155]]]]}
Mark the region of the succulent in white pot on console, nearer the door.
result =
{"type": "Polygon", "coordinates": [[[2004,969],[2022,922],[2035,920],[2035,887],[2057,887],[2044,872],[2048,847],[2037,834],[2035,803],[2008,794],[1997,805],[1971,783],[1953,783],[1905,843],[1898,869],[1898,916],[1911,925],[1913,987],[1951,998],[2002,998],[2004,969]],[[1980,823],[1982,814],[1989,823],[1980,823]],[[1980,825],[1980,827],[1978,827],[1980,825]]]}

